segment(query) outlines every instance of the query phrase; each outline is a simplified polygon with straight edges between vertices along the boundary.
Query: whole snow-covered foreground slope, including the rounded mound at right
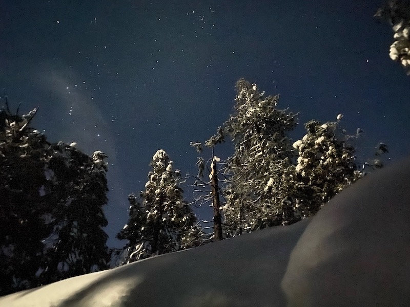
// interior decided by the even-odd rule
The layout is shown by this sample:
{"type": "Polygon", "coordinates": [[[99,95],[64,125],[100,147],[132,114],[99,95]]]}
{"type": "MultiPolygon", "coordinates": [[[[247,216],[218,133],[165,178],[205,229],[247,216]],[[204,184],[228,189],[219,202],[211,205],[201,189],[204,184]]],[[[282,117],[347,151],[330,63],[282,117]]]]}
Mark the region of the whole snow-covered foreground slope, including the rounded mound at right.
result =
{"type": "Polygon", "coordinates": [[[310,220],[0,298],[0,306],[410,305],[410,159],[310,220]]]}

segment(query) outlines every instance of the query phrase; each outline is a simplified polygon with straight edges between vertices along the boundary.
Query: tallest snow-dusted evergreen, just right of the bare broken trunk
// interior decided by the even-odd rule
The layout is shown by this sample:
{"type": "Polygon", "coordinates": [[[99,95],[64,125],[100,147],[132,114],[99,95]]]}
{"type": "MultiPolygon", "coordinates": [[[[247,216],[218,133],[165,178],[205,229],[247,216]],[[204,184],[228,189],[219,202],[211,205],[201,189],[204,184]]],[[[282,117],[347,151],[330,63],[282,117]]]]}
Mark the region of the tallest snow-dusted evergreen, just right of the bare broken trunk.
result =
{"type": "Polygon", "coordinates": [[[244,79],[236,83],[236,91],[235,113],[224,124],[235,146],[223,206],[228,235],[289,220],[286,187],[280,182],[292,167],[288,132],[297,125],[297,114],[276,108],[279,96],[265,96],[244,79]],[[278,186],[266,188],[273,184],[278,186]]]}

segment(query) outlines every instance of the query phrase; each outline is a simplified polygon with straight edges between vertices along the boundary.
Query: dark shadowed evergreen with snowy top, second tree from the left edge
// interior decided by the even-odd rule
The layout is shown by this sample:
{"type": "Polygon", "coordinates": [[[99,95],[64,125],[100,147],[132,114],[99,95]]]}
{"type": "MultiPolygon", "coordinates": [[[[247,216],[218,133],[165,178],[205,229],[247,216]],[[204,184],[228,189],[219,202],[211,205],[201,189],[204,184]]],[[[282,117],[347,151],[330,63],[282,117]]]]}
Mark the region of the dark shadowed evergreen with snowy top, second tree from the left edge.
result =
{"type": "Polygon", "coordinates": [[[107,155],[95,151],[92,157],[62,142],[49,147],[46,162],[49,181],[45,192],[54,196],[48,216],[52,231],[43,240],[45,256],[37,275],[40,280],[60,280],[107,269],[108,235],[102,227],[107,219],[107,155]],[[57,183],[57,184],[56,184],[57,183]]]}

